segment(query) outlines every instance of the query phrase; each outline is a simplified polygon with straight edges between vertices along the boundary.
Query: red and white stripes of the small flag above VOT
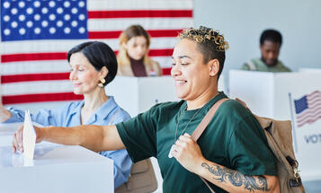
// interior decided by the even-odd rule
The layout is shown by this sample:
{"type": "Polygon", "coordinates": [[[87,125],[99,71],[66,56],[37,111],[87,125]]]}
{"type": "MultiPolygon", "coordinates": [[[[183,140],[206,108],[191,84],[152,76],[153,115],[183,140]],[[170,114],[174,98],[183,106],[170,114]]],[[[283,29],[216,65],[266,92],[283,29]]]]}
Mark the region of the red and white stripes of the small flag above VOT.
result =
{"type": "Polygon", "coordinates": [[[305,124],[314,123],[321,118],[321,92],[316,91],[307,95],[308,109],[303,110],[297,116],[297,125],[302,127],[305,124]]]}

